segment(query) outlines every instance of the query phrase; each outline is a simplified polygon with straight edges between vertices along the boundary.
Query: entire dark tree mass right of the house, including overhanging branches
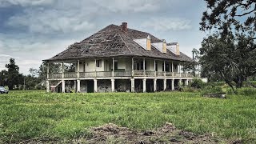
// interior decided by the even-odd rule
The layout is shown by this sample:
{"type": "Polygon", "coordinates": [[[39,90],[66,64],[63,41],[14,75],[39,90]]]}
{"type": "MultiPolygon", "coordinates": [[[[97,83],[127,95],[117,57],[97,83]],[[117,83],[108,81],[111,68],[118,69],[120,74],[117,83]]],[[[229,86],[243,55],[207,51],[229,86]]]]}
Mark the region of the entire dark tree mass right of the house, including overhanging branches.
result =
{"type": "MultiPolygon", "coordinates": [[[[232,88],[256,74],[256,1],[205,0],[200,30],[213,30],[200,49],[202,75],[219,75],[232,88]]],[[[234,88],[233,88],[234,89],[234,88]]]]}

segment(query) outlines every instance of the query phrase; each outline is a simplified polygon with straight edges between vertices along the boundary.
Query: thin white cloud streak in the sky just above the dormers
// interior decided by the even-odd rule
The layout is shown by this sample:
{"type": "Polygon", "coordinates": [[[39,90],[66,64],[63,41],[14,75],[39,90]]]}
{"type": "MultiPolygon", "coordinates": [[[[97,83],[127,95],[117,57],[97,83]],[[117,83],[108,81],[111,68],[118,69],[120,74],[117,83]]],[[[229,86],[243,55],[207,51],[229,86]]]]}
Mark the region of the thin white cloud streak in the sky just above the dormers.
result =
{"type": "Polygon", "coordinates": [[[150,18],[143,22],[142,26],[156,31],[190,30],[192,28],[190,20],[185,18],[150,18]]]}

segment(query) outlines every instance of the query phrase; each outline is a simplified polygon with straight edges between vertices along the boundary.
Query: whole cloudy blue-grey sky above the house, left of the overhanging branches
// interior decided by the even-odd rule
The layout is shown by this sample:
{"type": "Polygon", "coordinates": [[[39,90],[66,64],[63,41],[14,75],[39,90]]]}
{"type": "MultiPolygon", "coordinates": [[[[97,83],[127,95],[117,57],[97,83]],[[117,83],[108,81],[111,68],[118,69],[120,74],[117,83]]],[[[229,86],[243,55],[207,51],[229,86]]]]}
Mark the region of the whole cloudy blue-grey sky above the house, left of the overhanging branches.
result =
{"type": "Polygon", "coordinates": [[[191,56],[206,36],[199,30],[204,10],[202,0],[0,0],[0,70],[15,58],[20,72],[29,74],[42,59],[122,22],[179,42],[191,56]]]}

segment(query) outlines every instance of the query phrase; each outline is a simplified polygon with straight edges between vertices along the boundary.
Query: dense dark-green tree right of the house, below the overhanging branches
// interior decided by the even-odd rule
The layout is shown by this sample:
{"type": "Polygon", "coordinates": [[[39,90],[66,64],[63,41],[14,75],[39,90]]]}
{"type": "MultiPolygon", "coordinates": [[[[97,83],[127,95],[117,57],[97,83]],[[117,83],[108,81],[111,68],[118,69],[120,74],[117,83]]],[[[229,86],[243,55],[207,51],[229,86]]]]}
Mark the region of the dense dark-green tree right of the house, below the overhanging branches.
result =
{"type": "Polygon", "coordinates": [[[232,82],[235,82],[236,88],[240,88],[246,78],[256,74],[255,48],[255,43],[243,35],[239,38],[232,35],[210,35],[203,39],[200,48],[202,74],[207,77],[219,74],[232,90],[232,82]]]}

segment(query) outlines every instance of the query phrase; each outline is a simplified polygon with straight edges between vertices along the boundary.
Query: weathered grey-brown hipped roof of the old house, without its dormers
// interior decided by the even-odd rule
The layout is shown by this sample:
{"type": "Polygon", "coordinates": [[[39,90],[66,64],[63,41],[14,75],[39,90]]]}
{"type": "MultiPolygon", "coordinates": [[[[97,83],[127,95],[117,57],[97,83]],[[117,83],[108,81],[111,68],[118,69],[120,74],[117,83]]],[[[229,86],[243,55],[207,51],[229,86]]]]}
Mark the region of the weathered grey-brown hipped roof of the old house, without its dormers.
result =
{"type": "Polygon", "coordinates": [[[150,35],[151,42],[162,42],[162,40],[154,37],[152,34],[127,29],[122,30],[122,26],[110,25],[97,33],[91,35],[89,38],[81,42],[75,42],[66,50],[55,55],[53,58],[46,59],[45,61],[64,61],[76,60],[86,58],[110,58],[110,57],[148,57],[148,58],[164,58],[178,61],[194,60],[186,54],[180,53],[176,55],[170,50],[163,54],[154,46],[151,50],[145,50],[139,46],[134,39],[147,38],[150,35]]]}

